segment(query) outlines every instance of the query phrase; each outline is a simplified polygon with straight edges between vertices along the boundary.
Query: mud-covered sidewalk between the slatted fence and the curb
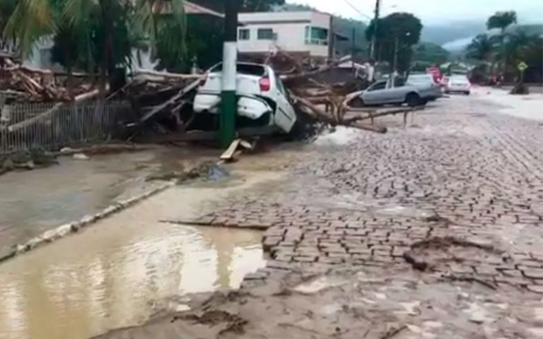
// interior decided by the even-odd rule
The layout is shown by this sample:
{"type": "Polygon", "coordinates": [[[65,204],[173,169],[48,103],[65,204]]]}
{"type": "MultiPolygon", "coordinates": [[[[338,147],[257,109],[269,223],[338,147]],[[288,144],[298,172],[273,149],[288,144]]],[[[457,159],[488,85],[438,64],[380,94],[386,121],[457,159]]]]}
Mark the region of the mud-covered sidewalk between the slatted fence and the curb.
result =
{"type": "Polygon", "coordinates": [[[0,177],[0,258],[13,245],[93,215],[112,204],[156,190],[163,170],[182,171],[196,160],[182,148],[151,146],[133,153],[59,157],[59,165],[0,177]]]}

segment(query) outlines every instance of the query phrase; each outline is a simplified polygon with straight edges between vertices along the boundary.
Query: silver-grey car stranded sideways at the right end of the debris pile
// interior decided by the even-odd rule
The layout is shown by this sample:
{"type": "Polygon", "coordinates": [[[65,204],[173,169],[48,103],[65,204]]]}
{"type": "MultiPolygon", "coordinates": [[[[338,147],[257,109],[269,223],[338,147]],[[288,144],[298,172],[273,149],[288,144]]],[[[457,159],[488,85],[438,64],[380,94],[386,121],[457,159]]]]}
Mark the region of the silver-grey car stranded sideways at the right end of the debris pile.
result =
{"type": "Polygon", "coordinates": [[[433,87],[424,84],[406,83],[403,78],[391,77],[376,81],[359,96],[358,105],[402,105],[411,107],[426,105],[430,100],[436,100],[439,95],[433,87]]]}

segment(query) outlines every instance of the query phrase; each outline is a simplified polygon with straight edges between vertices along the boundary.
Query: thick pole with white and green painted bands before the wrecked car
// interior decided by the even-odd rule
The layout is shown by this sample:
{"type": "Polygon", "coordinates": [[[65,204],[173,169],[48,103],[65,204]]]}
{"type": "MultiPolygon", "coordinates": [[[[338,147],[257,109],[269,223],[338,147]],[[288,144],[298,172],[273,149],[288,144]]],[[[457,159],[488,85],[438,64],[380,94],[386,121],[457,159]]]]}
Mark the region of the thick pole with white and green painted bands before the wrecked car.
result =
{"type": "Polygon", "coordinates": [[[223,79],[220,117],[221,146],[228,147],[235,138],[236,61],[238,59],[238,0],[225,0],[223,79]]]}

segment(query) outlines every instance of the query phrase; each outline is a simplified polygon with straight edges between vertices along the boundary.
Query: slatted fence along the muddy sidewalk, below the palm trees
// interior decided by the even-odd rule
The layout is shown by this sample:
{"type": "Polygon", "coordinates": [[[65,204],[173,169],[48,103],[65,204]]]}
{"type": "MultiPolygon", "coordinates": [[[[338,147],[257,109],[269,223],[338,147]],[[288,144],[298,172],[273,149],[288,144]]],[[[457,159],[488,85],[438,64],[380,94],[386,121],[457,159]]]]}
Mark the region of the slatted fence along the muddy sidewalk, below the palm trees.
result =
{"type": "Polygon", "coordinates": [[[107,141],[128,109],[129,103],[122,101],[5,105],[0,115],[0,155],[107,141]]]}

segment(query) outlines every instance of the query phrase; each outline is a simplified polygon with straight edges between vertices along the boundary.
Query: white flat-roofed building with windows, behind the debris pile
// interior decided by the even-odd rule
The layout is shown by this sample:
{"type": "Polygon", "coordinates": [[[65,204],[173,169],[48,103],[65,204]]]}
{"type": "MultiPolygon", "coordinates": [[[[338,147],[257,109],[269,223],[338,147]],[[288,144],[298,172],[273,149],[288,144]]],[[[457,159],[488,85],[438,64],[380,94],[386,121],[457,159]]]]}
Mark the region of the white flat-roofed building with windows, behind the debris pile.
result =
{"type": "Polygon", "coordinates": [[[316,11],[240,13],[238,50],[242,54],[267,54],[282,49],[314,58],[334,55],[332,16],[316,11]]]}

